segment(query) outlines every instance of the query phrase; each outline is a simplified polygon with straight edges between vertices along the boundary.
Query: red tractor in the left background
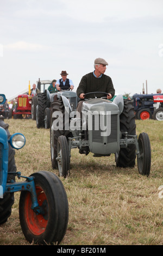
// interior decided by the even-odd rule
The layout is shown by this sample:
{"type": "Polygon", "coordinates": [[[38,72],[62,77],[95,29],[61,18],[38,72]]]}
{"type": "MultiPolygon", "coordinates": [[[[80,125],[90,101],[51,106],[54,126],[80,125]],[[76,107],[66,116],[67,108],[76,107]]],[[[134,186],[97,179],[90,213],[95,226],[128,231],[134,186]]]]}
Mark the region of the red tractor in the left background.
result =
{"type": "Polygon", "coordinates": [[[17,97],[17,104],[13,109],[12,115],[17,119],[31,118],[32,95],[21,94],[17,97]]]}

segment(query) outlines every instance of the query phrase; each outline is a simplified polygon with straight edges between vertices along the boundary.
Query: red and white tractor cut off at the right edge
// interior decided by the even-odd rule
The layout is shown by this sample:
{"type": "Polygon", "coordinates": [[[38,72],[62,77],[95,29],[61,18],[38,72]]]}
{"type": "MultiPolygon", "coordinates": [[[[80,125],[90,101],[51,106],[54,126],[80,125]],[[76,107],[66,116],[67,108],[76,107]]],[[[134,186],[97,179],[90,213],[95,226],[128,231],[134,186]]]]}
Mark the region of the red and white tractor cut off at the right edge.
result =
{"type": "Polygon", "coordinates": [[[154,112],[153,119],[163,121],[163,95],[158,94],[153,96],[154,99],[154,112]]]}

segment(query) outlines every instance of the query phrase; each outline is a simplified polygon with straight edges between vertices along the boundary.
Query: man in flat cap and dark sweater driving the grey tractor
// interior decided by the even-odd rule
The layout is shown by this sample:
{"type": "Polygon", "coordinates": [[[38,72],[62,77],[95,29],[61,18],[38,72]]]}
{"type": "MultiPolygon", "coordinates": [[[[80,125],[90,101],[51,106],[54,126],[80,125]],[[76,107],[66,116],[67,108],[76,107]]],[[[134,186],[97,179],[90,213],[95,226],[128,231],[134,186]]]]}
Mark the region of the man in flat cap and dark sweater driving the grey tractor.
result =
{"type": "MultiPolygon", "coordinates": [[[[104,92],[108,93],[108,100],[110,100],[115,95],[115,89],[112,84],[112,80],[109,76],[104,75],[106,71],[106,65],[108,62],[102,58],[95,59],[94,68],[95,70],[85,76],[82,77],[82,80],[79,83],[77,88],[77,95],[80,99],[87,99],[87,97],[94,97],[94,95],[86,93],[91,92],[104,92]]],[[[103,97],[104,94],[99,93],[96,94],[97,97],[103,97]]]]}

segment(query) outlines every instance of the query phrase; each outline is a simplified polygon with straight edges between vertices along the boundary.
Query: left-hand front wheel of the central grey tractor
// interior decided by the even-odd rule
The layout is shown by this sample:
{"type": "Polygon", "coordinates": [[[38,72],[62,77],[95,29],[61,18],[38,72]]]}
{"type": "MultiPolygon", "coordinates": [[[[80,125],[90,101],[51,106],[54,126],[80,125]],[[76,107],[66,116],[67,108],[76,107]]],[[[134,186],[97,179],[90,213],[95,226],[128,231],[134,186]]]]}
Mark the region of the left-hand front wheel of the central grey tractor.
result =
{"type": "Polygon", "coordinates": [[[68,150],[68,143],[65,136],[61,135],[58,138],[57,143],[57,161],[59,175],[68,176],[70,172],[70,154],[68,150]]]}

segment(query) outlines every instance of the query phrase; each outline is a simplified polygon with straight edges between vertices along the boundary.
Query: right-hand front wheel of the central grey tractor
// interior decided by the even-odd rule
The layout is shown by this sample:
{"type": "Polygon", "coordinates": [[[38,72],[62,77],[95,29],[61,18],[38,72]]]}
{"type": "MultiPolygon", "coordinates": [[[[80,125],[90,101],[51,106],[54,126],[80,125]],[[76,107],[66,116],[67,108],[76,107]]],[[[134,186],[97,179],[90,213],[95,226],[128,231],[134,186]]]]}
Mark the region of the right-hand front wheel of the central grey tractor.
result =
{"type": "Polygon", "coordinates": [[[147,133],[140,133],[138,143],[140,154],[137,155],[137,167],[140,174],[149,176],[151,170],[151,144],[147,133]]]}

